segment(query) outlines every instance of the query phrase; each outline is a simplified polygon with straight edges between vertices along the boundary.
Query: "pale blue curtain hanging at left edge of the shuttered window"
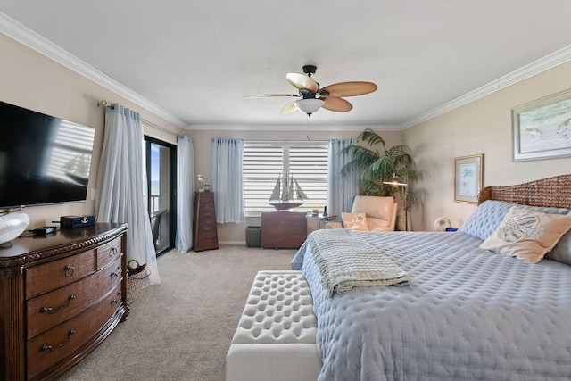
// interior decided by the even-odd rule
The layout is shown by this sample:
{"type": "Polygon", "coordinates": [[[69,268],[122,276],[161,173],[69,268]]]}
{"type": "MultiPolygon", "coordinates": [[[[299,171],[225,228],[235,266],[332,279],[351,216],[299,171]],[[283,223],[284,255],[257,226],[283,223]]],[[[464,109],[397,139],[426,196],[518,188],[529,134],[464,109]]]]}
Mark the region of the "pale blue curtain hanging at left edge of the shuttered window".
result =
{"type": "Polygon", "coordinates": [[[242,163],[244,140],[217,137],[212,140],[211,186],[216,222],[245,222],[242,163]]]}

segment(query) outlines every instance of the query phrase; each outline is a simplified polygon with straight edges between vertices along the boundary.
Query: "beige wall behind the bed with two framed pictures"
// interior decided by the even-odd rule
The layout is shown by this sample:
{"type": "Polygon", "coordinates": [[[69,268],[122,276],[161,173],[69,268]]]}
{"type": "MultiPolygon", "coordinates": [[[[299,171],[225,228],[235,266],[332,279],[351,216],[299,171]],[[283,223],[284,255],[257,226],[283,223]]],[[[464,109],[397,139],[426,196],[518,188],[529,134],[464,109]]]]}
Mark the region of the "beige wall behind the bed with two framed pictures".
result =
{"type": "Polygon", "coordinates": [[[454,158],[484,153],[484,186],[520,184],[571,172],[571,158],[512,162],[511,109],[571,88],[571,62],[404,131],[424,179],[415,190],[425,195],[412,211],[413,228],[434,229],[446,216],[458,228],[476,205],[454,202],[454,158]]]}

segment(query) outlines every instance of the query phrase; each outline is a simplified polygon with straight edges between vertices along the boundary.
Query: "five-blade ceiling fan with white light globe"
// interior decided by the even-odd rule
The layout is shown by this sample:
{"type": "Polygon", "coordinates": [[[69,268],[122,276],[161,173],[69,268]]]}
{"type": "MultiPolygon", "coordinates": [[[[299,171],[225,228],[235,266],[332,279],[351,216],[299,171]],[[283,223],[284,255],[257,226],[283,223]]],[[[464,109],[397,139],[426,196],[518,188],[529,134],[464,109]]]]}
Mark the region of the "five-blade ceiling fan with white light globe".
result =
{"type": "Polygon", "coordinates": [[[311,78],[315,74],[317,66],[303,66],[303,74],[287,73],[285,78],[299,90],[298,94],[265,94],[249,95],[246,98],[260,98],[269,96],[295,96],[300,99],[285,104],[281,113],[286,115],[300,111],[311,115],[321,107],[332,112],[348,112],[353,106],[343,99],[344,96],[365,95],[377,90],[377,85],[372,82],[340,82],[326,87],[319,87],[319,83],[311,78]]]}

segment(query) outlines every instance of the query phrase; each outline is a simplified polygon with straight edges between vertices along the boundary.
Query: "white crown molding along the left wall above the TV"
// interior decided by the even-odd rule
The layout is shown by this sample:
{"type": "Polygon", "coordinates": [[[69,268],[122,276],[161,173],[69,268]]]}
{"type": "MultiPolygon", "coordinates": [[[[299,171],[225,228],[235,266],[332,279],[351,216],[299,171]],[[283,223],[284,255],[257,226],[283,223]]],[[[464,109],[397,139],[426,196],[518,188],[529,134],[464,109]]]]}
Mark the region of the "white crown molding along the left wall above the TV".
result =
{"type": "Polygon", "coordinates": [[[37,53],[45,55],[54,62],[58,62],[66,68],[79,73],[83,77],[94,81],[96,84],[111,90],[113,93],[120,95],[135,104],[139,104],[141,107],[145,108],[145,110],[153,112],[162,119],[168,120],[170,123],[180,128],[190,129],[189,124],[184,120],[181,120],[157,104],[153,104],[153,102],[149,101],[145,97],[138,95],[128,87],[121,85],[115,79],[103,74],[100,70],[96,70],[87,62],[79,60],[78,57],[69,54],[61,47],[56,46],[46,38],[41,37],[32,30],[24,27],[18,21],[12,20],[2,12],[0,12],[0,32],[11,37],[22,45],[28,46],[37,53]]]}

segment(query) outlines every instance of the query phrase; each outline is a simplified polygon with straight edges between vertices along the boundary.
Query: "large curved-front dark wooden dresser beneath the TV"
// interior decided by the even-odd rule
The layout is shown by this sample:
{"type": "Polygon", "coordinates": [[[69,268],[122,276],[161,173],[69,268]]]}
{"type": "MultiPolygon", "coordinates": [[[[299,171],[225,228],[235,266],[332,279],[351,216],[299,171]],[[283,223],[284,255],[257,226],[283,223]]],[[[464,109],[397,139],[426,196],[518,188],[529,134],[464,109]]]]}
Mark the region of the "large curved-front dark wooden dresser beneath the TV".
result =
{"type": "Polygon", "coordinates": [[[95,224],[0,249],[0,379],[58,377],[127,317],[127,229],[95,224]]]}

